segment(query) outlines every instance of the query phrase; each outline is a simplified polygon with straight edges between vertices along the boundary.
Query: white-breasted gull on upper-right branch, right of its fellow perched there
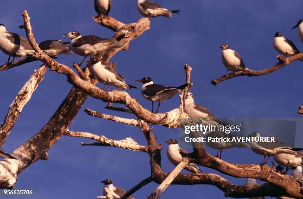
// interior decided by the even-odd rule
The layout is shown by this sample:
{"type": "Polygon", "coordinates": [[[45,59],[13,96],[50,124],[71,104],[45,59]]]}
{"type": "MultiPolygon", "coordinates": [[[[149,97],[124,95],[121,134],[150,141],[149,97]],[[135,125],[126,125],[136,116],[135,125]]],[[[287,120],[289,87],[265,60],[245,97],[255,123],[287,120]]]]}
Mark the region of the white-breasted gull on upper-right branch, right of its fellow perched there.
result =
{"type": "Polygon", "coordinates": [[[280,32],[276,32],[273,46],[277,52],[284,56],[292,56],[300,52],[295,44],[289,39],[283,37],[280,32]]]}

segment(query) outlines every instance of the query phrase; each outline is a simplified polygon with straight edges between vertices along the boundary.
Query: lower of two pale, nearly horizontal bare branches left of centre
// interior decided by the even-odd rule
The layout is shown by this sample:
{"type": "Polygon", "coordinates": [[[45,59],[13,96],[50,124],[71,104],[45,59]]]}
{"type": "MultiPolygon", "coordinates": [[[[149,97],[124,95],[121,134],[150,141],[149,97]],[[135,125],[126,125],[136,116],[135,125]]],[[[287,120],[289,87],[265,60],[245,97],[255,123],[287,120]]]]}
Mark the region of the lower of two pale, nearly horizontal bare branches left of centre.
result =
{"type": "MultiPolygon", "coordinates": [[[[98,142],[93,145],[99,145],[99,146],[104,146],[104,147],[120,147],[120,148],[124,148],[124,149],[141,151],[141,152],[147,152],[147,150],[148,150],[147,146],[139,145],[132,138],[126,138],[123,140],[113,140],[113,139],[108,139],[105,136],[98,136],[98,135],[92,134],[92,133],[69,131],[69,130],[65,130],[64,135],[68,135],[71,137],[89,138],[89,139],[92,139],[92,140],[95,140],[98,142]]],[[[81,145],[87,145],[87,144],[81,143],[81,145]]]]}

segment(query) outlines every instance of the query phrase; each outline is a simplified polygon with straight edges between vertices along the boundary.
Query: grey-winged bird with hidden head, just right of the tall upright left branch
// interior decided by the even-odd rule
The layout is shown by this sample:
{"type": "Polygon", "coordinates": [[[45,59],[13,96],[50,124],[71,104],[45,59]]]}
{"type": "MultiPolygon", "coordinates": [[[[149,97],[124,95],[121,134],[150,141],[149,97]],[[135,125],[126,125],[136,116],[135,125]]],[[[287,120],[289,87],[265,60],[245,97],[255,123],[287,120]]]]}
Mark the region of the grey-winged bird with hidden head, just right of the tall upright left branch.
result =
{"type": "MultiPolygon", "coordinates": [[[[20,29],[25,29],[24,25],[19,26],[20,29]]],[[[70,42],[63,42],[63,40],[45,40],[38,44],[39,48],[53,58],[59,54],[72,54],[69,47],[70,42]]]]}

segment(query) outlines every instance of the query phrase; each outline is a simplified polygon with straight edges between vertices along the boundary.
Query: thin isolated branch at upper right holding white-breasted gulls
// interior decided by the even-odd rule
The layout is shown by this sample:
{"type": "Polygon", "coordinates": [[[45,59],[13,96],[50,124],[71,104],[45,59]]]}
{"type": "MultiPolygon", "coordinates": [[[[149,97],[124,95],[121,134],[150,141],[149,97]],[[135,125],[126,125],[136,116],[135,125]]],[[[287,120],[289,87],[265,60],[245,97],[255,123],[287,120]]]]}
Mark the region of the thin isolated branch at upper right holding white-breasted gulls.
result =
{"type": "Polygon", "coordinates": [[[287,58],[284,58],[282,56],[277,56],[277,58],[279,59],[279,62],[270,67],[270,68],[266,68],[266,69],[263,69],[263,70],[260,70],[260,71],[256,71],[256,70],[243,70],[243,71],[238,71],[238,72],[234,72],[234,73],[230,73],[230,74],[227,74],[227,75],[223,75],[222,77],[218,78],[218,79],[214,79],[211,81],[211,84],[213,85],[217,85],[219,84],[220,82],[223,82],[225,80],[228,80],[228,79],[231,79],[231,78],[234,78],[234,77],[237,77],[237,76],[260,76],[260,75],[266,75],[268,73],[271,73],[271,72],[274,72],[276,70],[279,70],[280,68],[296,61],[296,60],[299,60],[299,59],[302,59],[303,58],[303,52],[300,52],[298,54],[295,54],[291,57],[287,57],[287,58]]]}

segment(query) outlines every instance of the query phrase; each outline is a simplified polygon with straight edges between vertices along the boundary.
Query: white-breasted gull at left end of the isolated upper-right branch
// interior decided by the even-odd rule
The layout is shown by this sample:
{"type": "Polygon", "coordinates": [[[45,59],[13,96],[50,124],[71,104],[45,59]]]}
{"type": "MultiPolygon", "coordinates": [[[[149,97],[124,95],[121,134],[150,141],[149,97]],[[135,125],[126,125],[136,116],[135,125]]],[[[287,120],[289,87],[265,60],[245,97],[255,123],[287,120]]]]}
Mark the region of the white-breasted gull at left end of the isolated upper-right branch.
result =
{"type": "Polygon", "coordinates": [[[237,72],[247,69],[241,56],[235,50],[232,50],[228,44],[224,44],[220,48],[222,49],[222,62],[227,68],[227,72],[228,70],[237,72]]]}

